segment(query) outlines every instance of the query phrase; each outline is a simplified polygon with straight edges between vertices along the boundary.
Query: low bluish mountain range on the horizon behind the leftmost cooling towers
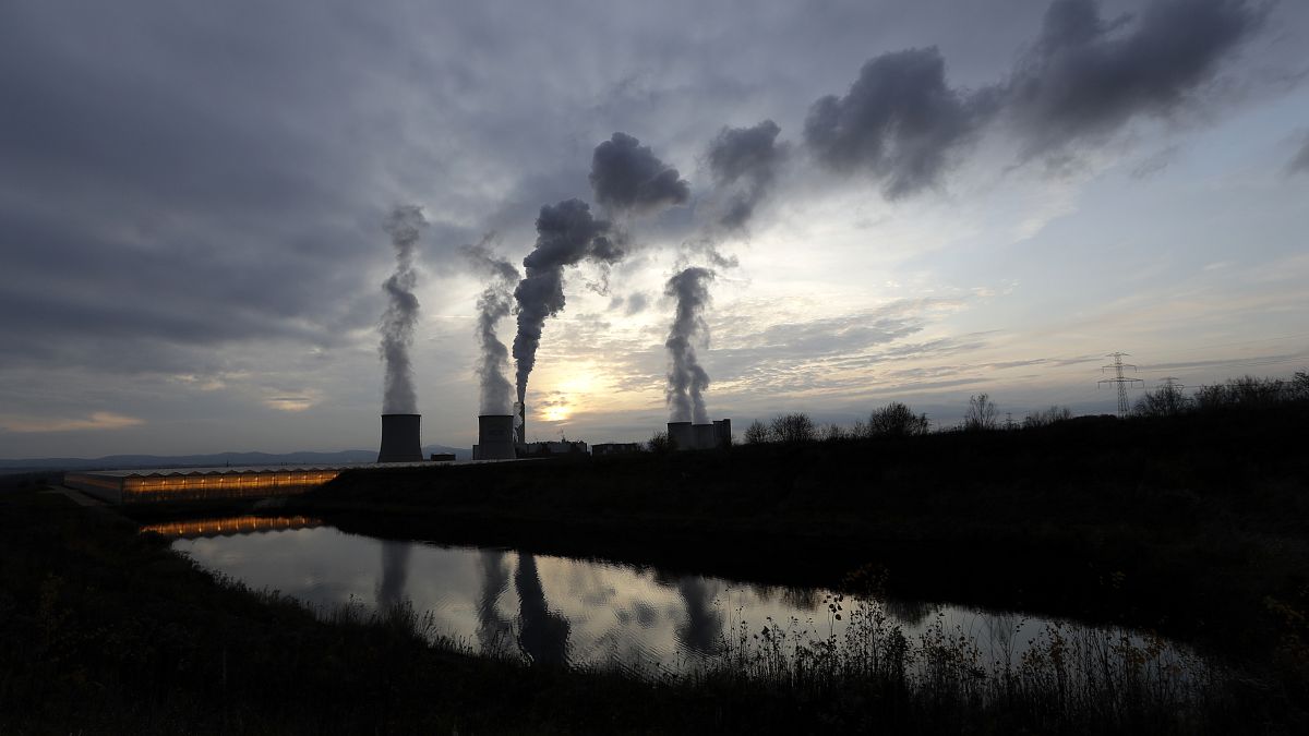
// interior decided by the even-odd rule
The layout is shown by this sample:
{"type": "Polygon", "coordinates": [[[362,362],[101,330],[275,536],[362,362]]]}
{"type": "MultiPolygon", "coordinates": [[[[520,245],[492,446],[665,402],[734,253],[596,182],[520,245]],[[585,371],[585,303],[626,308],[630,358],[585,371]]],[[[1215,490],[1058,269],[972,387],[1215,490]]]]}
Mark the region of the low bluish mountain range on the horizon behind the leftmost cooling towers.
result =
{"type": "MultiPolygon", "coordinates": [[[[423,457],[432,453],[454,453],[456,460],[471,460],[473,451],[445,445],[427,445],[423,457]]],[[[223,468],[225,465],[338,465],[376,462],[376,449],[343,449],[340,452],[220,452],[216,454],[110,454],[106,457],[35,457],[3,460],[3,470],[107,470],[132,468],[223,468]]]]}

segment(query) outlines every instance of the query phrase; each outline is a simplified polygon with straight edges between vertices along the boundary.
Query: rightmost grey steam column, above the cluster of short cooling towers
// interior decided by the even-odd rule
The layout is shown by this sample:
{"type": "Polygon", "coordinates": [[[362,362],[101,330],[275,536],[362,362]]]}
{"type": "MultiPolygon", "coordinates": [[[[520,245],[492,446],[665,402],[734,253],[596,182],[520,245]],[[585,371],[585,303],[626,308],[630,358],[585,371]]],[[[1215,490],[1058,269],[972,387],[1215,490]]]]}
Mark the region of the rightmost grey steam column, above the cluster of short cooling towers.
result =
{"type": "Polygon", "coordinates": [[[664,288],[664,293],[677,299],[677,317],[669,331],[668,347],[669,371],[665,398],[669,409],[669,422],[694,422],[706,424],[709,420],[704,410],[704,389],[709,386],[709,375],[700,368],[695,358],[694,340],[708,334],[704,323],[704,305],[709,301],[709,282],[713,271],[700,267],[685,268],[664,288]]]}

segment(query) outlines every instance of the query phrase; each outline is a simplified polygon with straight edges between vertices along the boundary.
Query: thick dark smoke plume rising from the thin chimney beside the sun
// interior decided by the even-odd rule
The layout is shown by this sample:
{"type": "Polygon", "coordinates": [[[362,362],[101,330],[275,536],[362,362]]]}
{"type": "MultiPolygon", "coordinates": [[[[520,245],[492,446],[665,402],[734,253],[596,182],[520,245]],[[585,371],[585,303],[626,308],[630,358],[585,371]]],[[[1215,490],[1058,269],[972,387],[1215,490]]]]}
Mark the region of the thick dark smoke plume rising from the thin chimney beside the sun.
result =
{"type": "Polygon", "coordinates": [[[545,206],[537,217],[537,246],[522,259],[526,276],[513,297],[518,301],[518,334],[513,359],[518,364],[518,401],[528,393],[528,377],[537,364],[537,348],[546,318],[564,308],[564,266],[583,259],[614,263],[623,257],[610,237],[610,224],[590,215],[590,206],[567,199],[545,206]]]}

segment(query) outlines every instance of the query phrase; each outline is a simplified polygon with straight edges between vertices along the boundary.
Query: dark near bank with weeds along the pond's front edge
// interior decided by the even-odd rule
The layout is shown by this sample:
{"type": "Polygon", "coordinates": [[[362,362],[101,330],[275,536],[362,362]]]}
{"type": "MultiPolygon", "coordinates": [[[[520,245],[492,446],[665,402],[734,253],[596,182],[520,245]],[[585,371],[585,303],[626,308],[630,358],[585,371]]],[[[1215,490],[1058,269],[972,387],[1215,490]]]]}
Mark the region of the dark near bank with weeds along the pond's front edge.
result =
{"type": "Polygon", "coordinates": [[[1012,671],[978,673],[969,644],[948,631],[908,642],[874,601],[843,602],[860,617],[843,640],[796,647],[780,627],[742,630],[729,661],[694,680],[528,668],[463,656],[448,642],[428,646],[424,619],[404,609],[319,621],[275,593],[213,580],[160,537],[101,509],[16,492],[0,498],[0,732],[1295,727],[1240,682],[1161,688],[1135,660],[1097,671],[1096,647],[1113,642],[1051,639],[1012,671]]]}

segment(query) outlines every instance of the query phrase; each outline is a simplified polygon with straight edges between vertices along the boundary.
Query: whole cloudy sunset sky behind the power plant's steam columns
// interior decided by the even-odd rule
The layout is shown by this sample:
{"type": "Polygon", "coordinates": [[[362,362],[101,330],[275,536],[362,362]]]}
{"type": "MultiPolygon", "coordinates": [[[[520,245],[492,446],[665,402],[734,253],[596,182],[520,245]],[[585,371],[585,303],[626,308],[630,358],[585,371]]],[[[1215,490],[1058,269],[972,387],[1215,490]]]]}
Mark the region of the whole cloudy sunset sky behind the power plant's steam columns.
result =
{"type": "Polygon", "coordinates": [[[649,439],[674,326],[738,431],[1289,376],[1306,47],[1289,0],[4,3],[0,457],[376,447],[398,206],[425,444],[476,441],[461,246],[524,271],[572,199],[529,439],[649,439]]]}

